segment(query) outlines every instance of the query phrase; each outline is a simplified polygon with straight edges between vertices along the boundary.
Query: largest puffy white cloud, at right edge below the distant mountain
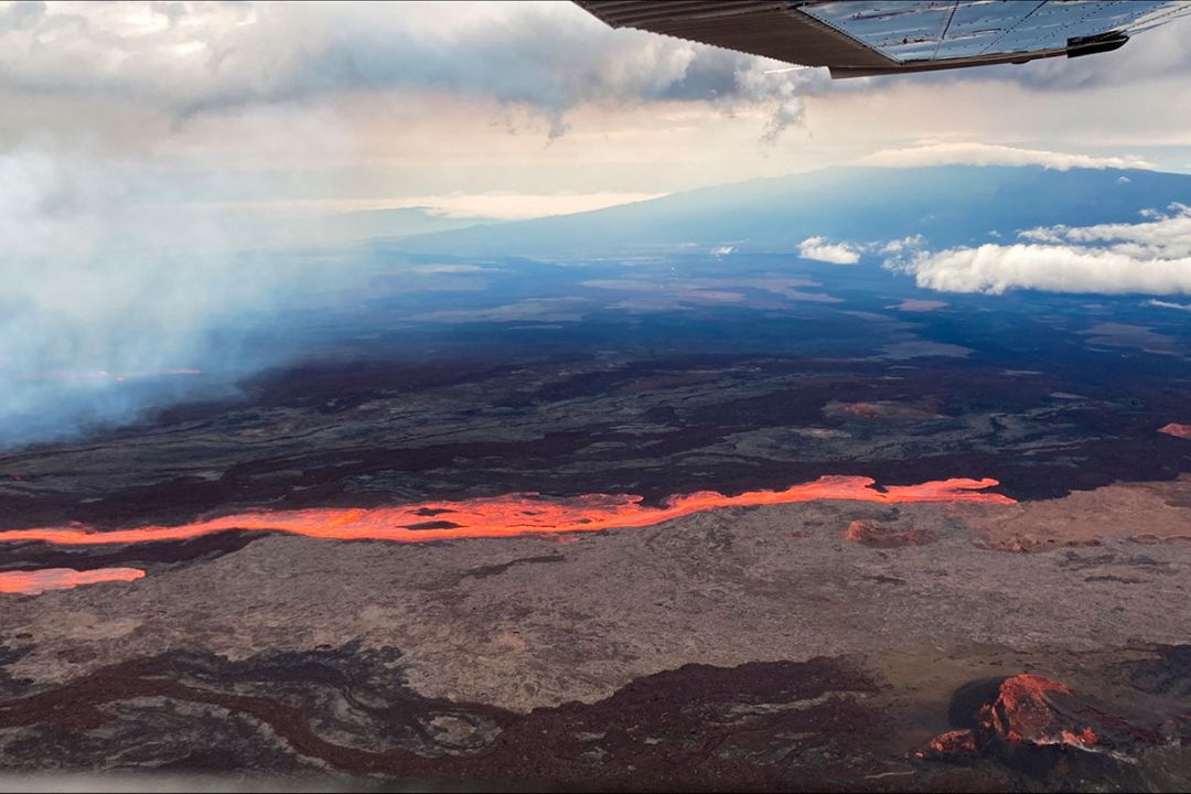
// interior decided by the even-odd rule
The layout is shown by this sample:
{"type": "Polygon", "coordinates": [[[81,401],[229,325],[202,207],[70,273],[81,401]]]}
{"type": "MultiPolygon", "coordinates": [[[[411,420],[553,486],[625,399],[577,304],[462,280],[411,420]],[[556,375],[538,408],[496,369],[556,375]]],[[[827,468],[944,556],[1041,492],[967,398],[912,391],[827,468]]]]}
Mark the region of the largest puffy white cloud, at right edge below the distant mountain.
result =
{"type": "Polygon", "coordinates": [[[1021,237],[1030,242],[919,251],[886,267],[942,292],[1191,294],[1191,207],[1173,205],[1146,223],[1052,226],[1021,237]]]}

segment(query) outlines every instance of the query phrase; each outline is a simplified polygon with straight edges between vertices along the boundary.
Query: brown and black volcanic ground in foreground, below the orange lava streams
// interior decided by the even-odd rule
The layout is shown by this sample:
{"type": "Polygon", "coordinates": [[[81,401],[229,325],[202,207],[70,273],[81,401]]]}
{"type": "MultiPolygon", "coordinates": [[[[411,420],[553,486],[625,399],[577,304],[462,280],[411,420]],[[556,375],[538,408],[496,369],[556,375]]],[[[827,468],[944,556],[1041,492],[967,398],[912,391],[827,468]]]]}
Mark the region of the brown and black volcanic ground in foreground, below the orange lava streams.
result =
{"type": "MultiPolygon", "coordinates": [[[[566,543],[276,536],[10,598],[0,758],[40,765],[52,740],[66,769],[987,790],[1035,773],[913,759],[969,681],[1036,671],[1154,731],[1191,709],[1191,669],[1161,654],[1185,637],[1184,548],[983,551],[953,515],[977,508],[736,508],[566,543]],[[852,520],[940,539],[866,548],[852,520]]],[[[1183,752],[1129,757],[1168,783],[1183,752]]]]}

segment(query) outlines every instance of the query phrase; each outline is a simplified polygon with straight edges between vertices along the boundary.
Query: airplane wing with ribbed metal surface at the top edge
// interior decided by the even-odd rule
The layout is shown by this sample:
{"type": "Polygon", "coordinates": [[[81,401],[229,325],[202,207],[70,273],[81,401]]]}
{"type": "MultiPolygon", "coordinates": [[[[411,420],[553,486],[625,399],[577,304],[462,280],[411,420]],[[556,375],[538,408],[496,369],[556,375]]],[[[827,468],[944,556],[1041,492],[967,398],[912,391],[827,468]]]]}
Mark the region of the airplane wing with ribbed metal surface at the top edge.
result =
{"type": "Polygon", "coordinates": [[[1191,0],[576,0],[636,27],[833,77],[959,69],[1115,50],[1191,0]]]}

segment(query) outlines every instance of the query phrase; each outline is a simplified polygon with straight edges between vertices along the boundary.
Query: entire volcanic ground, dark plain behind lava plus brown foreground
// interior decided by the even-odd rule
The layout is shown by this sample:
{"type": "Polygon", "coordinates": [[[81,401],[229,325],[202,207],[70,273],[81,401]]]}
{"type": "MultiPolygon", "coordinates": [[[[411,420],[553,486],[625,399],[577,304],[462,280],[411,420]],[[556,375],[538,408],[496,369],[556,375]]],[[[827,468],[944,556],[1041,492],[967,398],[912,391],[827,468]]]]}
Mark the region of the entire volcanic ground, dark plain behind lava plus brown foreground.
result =
{"type": "Polygon", "coordinates": [[[1153,432],[1176,396],[1139,387],[1140,409],[1086,383],[965,367],[313,367],[243,402],[0,456],[0,531],[130,532],[81,546],[5,536],[0,581],[145,573],[0,595],[0,770],[351,787],[1184,784],[1191,549],[1168,540],[1186,536],[1191,481],[1161,481],[1186,450],[1153,432]],[[734,501],[824,475],[880,484],[863,500],[734,501]],[[1021,501],[898,499],[948,477],[1000,480],[980,493],[1021,501]],[[666,512],[706,489],[725,495],[666,512]],[[461,504],[524,492],[542,496],[516,499],[523,513],[594,505],[634,526],[600,513],[597,531],[551,537],[455,531],[461,504]],[[350,529],[401,506],[400,529],[435,539],[301,537],[243,518],[316,509],[350,529]],[[212,531],[137,534],[192,521],[212,531]],[[978,742],[954,701],[1021,674],[1159,742],[1041,757],[1033,740],[978,742]],[[916,755],[964,730],[958,755],[916,755]]]}

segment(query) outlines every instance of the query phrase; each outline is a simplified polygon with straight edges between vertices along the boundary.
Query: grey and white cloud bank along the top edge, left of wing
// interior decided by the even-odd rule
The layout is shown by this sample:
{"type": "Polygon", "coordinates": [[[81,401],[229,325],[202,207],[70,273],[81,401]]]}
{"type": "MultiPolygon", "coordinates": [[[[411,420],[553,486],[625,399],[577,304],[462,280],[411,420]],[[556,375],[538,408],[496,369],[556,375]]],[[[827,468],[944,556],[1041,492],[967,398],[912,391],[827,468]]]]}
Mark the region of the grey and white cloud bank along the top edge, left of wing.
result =
{"type": "Polygon", "coordinates": [[[550,136],[601,101],[773,108],[799,124],[823,70],[631,30],[568,2],[18,4],[0,10],[0,88],[108,95],[181,118],[208,110],[411,89],[536,108],[550,136]],[[55,42],[55,46],[46,46],[55,42]]]}

